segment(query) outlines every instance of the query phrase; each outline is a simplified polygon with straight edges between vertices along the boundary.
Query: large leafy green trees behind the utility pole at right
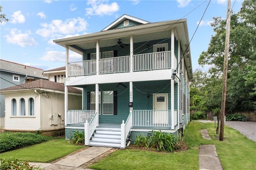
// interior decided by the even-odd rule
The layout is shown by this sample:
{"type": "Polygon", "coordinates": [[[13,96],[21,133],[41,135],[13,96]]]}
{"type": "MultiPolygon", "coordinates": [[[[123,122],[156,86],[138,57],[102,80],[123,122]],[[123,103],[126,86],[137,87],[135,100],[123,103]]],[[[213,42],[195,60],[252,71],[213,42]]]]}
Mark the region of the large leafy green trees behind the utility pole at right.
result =
{"type": "MultiPolygon", "coordinates": [[[[240,11],[237,14],[231,12],[230,18],[226,111],[255,110],[256,1],[245,0],[240,11]]],[[[195,82],[190,85],[190,104],[196,105],[193,96],[199,95],[200,97],[196,97],[197,101],[198,98],[203,99],[204,107],[209,110],[221,106],[226,18],[214,17],[211,26],[215,35],[212,36],[207,51],[202,51],[198,59],[201,66],[211,67],[206,73],[196,71],[193,75],[195,82]]]]}

